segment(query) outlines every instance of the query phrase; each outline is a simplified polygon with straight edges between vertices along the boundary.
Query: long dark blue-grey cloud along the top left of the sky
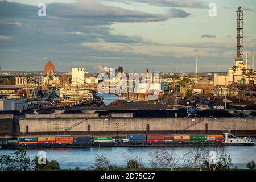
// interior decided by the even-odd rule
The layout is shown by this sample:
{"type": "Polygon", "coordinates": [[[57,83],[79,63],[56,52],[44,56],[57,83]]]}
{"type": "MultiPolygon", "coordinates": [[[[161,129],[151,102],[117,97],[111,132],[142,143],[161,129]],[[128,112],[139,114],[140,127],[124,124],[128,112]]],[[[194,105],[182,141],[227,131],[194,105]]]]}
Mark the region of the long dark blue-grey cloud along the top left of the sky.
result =
{"type": "MultiPolygon", "coordinates": [[[[0,17],[39,18],[37,6],[0,1],[0,17]]],[[[51,3],[47,5],[47,18],[72,18],[103,22],[157,22],[166,16],[106,6],[93,0],[77,0],[74,3],[51,3]]]]}

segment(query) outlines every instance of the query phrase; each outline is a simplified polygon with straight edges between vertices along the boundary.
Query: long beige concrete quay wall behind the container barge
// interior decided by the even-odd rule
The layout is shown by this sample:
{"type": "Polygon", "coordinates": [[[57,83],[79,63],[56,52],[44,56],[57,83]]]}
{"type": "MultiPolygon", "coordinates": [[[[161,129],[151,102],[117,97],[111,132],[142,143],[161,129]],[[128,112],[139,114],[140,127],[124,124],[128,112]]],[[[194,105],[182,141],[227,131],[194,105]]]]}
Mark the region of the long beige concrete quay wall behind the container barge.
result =
{"type": "Polygon", "coordinates": [[[255,118],[31,118],[20,132],[60,131],[256,131],[255,118]]]}

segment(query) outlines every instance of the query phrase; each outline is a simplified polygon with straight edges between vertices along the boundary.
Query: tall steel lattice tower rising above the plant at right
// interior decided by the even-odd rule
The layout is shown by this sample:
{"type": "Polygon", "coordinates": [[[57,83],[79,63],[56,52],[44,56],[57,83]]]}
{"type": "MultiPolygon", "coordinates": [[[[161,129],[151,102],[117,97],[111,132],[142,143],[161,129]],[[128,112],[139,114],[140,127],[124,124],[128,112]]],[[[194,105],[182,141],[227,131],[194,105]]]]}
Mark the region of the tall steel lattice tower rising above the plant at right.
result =
{"type": "Polygon", "coordinates": [[[236,61],[243,61],[243,11],[238,7],[237,12],[237,58],[236,61]]]}

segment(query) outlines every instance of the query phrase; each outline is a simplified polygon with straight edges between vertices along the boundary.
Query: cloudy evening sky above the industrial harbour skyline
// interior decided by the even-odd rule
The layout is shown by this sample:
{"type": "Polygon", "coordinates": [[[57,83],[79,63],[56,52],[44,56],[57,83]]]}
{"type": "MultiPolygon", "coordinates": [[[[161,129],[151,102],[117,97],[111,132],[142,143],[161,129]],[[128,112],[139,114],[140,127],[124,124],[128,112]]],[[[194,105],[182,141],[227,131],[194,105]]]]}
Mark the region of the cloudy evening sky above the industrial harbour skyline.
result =
{"type": "Polygon", "coordinates": [[[123,66],[127,72],[226,72],[236,57],[236,10],[244,53],[256,52],[255,0],[0,0],[0,66],[56,71],[123,66]],[[39,3],[46,17],[39,17],[39,3]],[[216,16],[209,16],[209,4],[216,16]]]}

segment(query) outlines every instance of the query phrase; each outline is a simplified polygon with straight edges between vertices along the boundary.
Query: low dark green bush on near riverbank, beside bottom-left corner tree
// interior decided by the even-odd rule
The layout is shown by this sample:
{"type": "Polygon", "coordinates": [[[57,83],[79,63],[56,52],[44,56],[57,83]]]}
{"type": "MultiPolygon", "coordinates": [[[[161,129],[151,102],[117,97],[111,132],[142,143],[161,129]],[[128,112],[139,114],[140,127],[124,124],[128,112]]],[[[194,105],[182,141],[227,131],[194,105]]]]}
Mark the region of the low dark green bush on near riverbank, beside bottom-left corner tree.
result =
{"type": "Polygon", "coordinates": [[[60,170],[60,164],[56,160],[49,161],[48,159],[46,159],[46,164],[39,164],[38,159],[38,156],[36,156],[33,160],[35,171],[60,170]]]}

